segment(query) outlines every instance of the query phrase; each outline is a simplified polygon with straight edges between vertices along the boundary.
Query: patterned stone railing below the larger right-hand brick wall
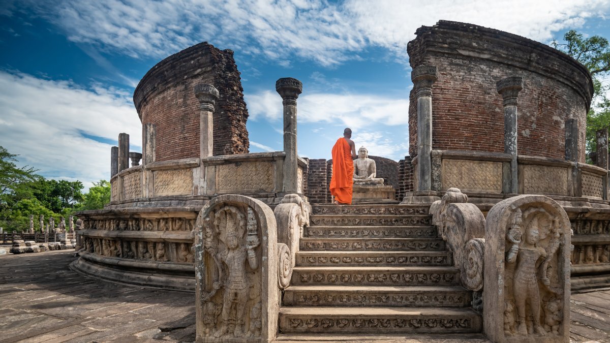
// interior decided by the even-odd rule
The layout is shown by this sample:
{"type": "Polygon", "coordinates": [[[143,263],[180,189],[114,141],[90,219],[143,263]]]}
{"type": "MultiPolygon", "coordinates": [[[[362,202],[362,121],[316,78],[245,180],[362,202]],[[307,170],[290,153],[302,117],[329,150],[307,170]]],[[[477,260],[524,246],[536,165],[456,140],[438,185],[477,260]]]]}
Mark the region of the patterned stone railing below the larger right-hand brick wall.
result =
{"type": "MultiPolygon", "coordinates": [[[[432,150],[431,190],[456,187],[473,203],[496,203],[511,193],[511,154],[432,150]]],[[[418,158],[412,160],[417,168],[418,158]]],[[[520,194],[548,195],[562,206],[610,208],[608,170],[546,157],[517,157],[520,194]],[[579,205],[580,204],[580,205],[579,205]]],[[[417,178],[417,173],[415,173],[417,178]]],[[[414,180],[417,185],[417,180],[414,180]]],[[[414,192],[414,193],[417,193],[414,192]]]]}

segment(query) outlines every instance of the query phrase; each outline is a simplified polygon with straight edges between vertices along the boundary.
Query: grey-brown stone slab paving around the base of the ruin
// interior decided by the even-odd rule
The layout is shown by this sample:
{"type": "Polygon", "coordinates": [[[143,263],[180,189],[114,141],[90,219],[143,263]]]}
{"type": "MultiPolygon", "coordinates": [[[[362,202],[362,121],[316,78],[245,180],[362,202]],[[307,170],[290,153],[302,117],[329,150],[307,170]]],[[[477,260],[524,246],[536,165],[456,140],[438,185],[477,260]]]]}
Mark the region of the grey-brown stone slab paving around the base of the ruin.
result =
{"type": "MultiPolygon", "coordinates": [[[[0,342],[192,342],[194,295],[81,276],[74,250],[0,255],[0,342]]],[[[572,295],[572,341],[610,342],[610,291],[572,295]]],[[[384,337],[386,342],[464,342],[456,336],[384,337]]],[[[283,343],[343,341],[339,336],[283,343]]],[[[296,339],[296,341],[295,341],[296,339]]],[[[359,342],[371,336],[362,335],[359,342]]],[[[473,337],[473,342],[485,339],[473,337]]],[[[355,343],[355,341],[353,341],[355,343]]],[[[368,341],[370,342],[370,341],[368,341]]]]}

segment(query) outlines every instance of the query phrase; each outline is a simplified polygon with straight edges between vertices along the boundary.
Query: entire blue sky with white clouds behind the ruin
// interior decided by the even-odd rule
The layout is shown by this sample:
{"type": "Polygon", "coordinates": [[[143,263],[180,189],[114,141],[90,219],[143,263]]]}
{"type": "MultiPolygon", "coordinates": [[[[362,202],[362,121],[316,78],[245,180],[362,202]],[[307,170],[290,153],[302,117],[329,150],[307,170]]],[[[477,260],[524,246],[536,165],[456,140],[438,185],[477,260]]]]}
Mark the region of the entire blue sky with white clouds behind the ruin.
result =
{"type": "Polygon", "coordinates": [[[109,178],[110,146],[131,135],[132,95],[161,59],[198,42],[233,49],[251,152],[282,149],[275,81],[303,82],[301,156],[328,158],[345,126],[371,154],[407,154],[409,59],[422,25],[455,20],[542,43],[575,29],[610,38],[610,1],[4,0],[0,145],[48,178],[109,178]]]}

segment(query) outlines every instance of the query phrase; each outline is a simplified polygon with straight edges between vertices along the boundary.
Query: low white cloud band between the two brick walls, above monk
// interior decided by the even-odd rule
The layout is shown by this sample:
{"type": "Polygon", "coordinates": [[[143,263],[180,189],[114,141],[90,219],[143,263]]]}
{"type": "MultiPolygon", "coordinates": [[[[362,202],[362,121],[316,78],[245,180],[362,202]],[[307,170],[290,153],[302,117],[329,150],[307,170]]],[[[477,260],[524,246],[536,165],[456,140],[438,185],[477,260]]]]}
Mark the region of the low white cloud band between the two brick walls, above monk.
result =
{"type": "MultiPolygon", "coordinates": [[[[281,120],[282,98],[271,91],[246,96],[252,120],[263,117],[281,120]]],[[[297,118],[300,123],[341,123],[352,129],[374,123],[407,125],[409,99],[373,94],[313,93],[299,97],[297,118]]]]}

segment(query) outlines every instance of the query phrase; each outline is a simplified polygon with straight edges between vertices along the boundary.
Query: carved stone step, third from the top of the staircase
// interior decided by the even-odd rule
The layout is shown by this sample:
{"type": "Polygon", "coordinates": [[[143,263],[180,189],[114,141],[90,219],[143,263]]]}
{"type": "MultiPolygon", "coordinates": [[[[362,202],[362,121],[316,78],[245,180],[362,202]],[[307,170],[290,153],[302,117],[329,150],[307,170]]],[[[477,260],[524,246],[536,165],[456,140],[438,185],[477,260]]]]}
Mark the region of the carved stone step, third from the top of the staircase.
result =
{"type": "Polygon", "coordinates": [[[307,226],[304,236],[436,238],[438,231],[432,226],[307,226]]]}

